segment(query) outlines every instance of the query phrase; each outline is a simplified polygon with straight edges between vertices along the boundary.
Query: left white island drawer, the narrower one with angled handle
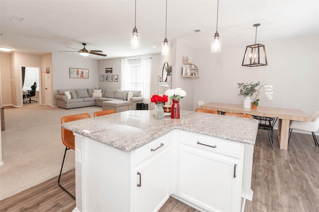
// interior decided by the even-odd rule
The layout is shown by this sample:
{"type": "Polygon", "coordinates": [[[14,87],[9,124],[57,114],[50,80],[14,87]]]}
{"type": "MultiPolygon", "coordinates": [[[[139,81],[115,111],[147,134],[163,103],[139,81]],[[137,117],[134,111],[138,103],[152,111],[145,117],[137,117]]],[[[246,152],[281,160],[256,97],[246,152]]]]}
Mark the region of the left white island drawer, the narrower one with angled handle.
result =
{"type": "Polygon", "coordinates": [[[135,163],[137,165],[145,159],[158,154],[163,149],[166,149],[170,144],[170,133],[161,136],[160,138],[135,150],[135,163]]]}

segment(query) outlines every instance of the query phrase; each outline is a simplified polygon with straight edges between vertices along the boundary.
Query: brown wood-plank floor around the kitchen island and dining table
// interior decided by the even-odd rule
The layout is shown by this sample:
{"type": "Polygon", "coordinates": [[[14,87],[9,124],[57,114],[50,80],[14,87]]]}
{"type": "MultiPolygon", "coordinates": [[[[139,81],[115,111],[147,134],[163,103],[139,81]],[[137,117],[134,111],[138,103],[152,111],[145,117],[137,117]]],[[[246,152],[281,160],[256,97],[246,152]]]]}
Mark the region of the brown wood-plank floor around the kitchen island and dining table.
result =
{"type": "MultiPolygon", "coordinates": [[[[62,185],[75,194],[74,170],[63,175],[62,185]]],[[[274,150],[268,133],[259,130],[254,148],[253,201],[245,212],[318,212],[319,148],[311,134],[293,132],[288,151],[280,150],[277,130],[274,150]]],[[[0,201],[0,212],[71,212],[75,201],[57,185],[57,177],[0,201]]],[[[169,198],[160,212],[198,212],[169,198]]]]}

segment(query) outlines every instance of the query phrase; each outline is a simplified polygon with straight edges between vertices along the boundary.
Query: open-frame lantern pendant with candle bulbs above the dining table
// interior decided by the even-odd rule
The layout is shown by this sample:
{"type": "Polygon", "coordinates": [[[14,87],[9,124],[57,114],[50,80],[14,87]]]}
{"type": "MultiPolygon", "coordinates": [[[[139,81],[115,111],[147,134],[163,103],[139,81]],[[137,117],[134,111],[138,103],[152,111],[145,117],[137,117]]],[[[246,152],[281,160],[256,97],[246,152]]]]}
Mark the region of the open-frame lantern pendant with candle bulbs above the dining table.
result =
{"type": "Polygon", "coordinates": [[[242,66],[254,67],[254,66],[267,66],[267,57],[265,45],[257,43],[257,27],[260,23],[256,23],[253,26],[256,27],[255,44],[246,46],[242,66]]]}

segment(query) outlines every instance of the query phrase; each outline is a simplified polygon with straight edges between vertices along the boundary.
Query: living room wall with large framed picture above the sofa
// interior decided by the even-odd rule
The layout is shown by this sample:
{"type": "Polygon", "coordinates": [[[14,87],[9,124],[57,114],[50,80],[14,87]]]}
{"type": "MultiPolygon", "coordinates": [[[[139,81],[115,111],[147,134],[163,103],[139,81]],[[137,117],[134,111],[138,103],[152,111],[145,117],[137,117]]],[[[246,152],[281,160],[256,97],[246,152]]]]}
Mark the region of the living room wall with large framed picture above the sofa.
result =
{"type": "MultiPolygon", "coordinates": [[[[98,60],[82,57],[72,53],[52,53],[53,97],[57,89],[77,89],[98,87],[100,75],[98,60]],[[89,79],[74,79],[69,77],[69,68],[89,69],[89,79]]],[[[56,106],[56,99],[53,98],[56,106]]]]}

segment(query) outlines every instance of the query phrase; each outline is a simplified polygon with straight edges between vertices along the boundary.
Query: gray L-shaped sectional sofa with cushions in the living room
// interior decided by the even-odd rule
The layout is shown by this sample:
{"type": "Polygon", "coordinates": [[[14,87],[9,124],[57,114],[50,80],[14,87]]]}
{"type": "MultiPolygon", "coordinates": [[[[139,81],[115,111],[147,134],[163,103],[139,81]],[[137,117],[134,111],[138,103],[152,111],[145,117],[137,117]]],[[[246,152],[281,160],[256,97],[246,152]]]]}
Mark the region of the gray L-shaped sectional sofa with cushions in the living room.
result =
{"type": "Polygon", "coordinates": [[[85,106],[103,106],[103,109],[114,109],[116,112],[125,110],[135,110],[137,103],[143,103],[141,91],[123,91],[115,89],[102,90],[102,97],[93,90],[98,89],[58,89],[55,99],[57,106],[65,109],[85,107],[85,106]],[[71,98],[65,95],[70,91],[71,98]],[[131,92],[131,93],[130,93],[131,92]],[[128,100],[129,94],[133,97],[128,100]],[[105,106],[103,103],[108,102],[105,106]]]}

